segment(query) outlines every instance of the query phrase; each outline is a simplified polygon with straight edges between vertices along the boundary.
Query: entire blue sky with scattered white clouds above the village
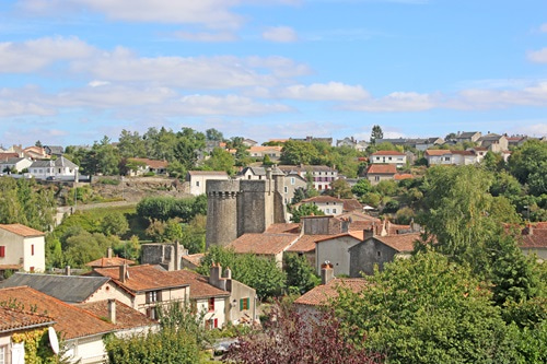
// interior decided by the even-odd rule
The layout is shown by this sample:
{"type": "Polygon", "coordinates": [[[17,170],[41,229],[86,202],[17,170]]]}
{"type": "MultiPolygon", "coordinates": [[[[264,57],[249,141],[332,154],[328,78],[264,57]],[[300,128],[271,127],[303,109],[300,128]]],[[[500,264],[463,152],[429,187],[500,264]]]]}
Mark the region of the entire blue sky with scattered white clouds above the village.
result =
{"type": "Polygon", "coordinates": [[[0,143],[547,134],[545,0],[4,0],[0,143]]]}

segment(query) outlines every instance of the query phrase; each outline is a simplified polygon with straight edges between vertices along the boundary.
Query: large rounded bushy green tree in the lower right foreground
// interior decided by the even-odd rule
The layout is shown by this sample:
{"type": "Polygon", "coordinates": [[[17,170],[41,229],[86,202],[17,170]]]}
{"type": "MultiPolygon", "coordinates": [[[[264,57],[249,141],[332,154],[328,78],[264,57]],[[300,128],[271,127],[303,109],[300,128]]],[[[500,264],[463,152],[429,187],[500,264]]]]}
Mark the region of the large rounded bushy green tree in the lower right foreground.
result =
{"type": "Polygon", "coordinates": [[[469,269],[439,254],[395,260],[334,307],[354,342],[388,363],[515,363],[490,292],[469,269]]]}

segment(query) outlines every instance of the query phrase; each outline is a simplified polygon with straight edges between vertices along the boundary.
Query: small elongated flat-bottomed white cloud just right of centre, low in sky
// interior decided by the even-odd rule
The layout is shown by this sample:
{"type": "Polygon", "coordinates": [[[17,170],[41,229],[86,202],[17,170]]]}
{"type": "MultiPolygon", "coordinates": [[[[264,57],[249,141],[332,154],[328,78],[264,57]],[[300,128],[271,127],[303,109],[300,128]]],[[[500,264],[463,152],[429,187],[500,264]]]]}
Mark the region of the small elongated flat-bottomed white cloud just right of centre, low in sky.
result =
{"type": "Polygon", "coordinates": [[[340,82],[313,83],[309,86],[298,84],[280,92],[280,96],[311,101],[362,101],[370,95],[360,85],[352,86],[340,82]]]}

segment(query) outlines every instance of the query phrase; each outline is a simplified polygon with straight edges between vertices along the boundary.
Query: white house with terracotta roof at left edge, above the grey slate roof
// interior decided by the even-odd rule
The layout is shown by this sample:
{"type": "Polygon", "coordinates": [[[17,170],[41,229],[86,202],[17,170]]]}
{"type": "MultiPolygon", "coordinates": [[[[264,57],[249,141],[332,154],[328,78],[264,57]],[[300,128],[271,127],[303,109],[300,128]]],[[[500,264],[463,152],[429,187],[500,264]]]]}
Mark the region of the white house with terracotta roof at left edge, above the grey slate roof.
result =
{"type": "Polygon", "coordinates": [[[0,270],[46,269],[45,234],[22,224],[0,224],[0,270]]]}

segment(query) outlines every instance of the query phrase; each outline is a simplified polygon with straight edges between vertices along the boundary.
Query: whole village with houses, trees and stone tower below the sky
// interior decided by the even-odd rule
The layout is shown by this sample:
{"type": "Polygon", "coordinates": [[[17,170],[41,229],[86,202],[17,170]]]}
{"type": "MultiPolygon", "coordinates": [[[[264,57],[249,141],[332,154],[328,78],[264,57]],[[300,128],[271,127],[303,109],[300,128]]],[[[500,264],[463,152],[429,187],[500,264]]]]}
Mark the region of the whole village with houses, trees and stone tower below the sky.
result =
{"type": "Polygon", "coordinates": [[[0,173],[0,363],[547,361],[545,137],[150,128],[0,173]]]}

